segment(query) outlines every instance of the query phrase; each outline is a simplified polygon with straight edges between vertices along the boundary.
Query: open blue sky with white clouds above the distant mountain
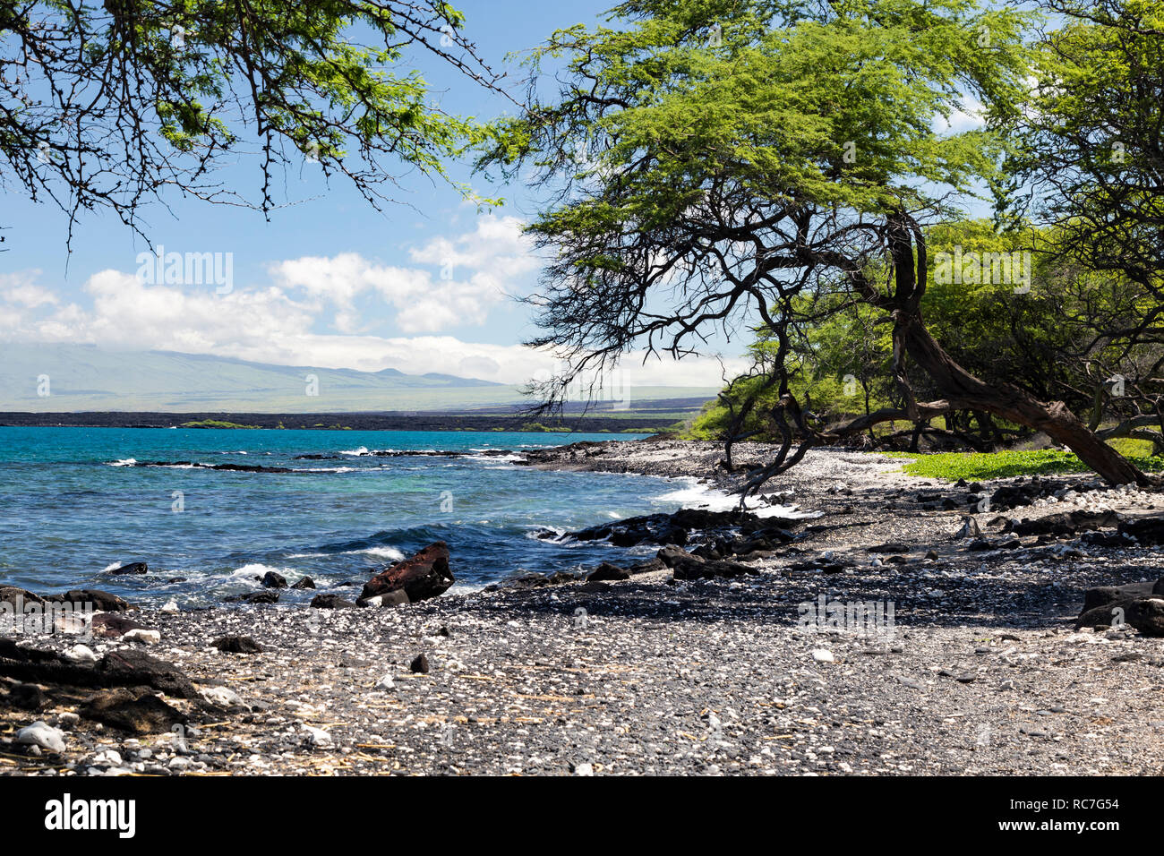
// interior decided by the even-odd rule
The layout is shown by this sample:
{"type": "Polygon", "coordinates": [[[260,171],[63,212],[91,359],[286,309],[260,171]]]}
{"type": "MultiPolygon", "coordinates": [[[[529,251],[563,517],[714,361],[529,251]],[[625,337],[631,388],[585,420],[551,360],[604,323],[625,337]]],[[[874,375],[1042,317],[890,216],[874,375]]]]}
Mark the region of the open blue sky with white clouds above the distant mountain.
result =
{"type": "MultiPolygon", "coordinates": [[[[610,2],[460,0],[457,6],[467,15],[463,34],[501,69],[509,51],[528,49],[560,27],[594,23],[610,2]]],[[[484,118],[506,106],[432,57],[417,59],[447,111],[484,118]]],[[[257,162],[248,165],[228,175],[255,194],[257,162]]],[[[452,171],[470,179],[463,167],[452,171]]],[[[509,298],[527,293],[537,277],[537,259],[519,232],[532,215],[532,200],[520,186],[473,181],[483,193],[505,197],[506,205],[481,214],[455,190],[420,178],[397,194],[406,205],[377,213],[346,179],[328,185],[319,165],[307,163],[286,175],[285,196],[294,204],[274,211],[269,222],[254,211],[177,196],[168,199],[170,211],[149,210],[155,246],[221,254],[223,267],[229,260],[226,293],[214,282],[143,282],[139,254],[150,247],[108,215],[80,221],[70,255],[65,217],[9,192],[0,337],[28,347],[86,342],[503,382],[544,375],[553,359],[519,346],[534,331],[528,307],[509,298]]],[[[737,339],[714,347],[739,365],[743,345],[737,339]]],[[[718,385],[722,376],[715,360],[627,368],[633,383],[718,385]]]]}

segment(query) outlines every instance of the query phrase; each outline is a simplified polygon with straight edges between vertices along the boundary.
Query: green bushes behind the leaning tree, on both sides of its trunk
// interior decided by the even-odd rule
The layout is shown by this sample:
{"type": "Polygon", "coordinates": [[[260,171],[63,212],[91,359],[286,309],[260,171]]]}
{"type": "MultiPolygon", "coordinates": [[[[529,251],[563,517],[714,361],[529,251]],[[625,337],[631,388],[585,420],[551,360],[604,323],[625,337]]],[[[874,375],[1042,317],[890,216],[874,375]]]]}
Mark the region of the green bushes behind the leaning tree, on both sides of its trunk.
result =
{"type": "MultiPolygon", "coordinates": [[[[1039,252],[1056,240],[1053,229],[1027,226],[1000,233],[989,220],[952,220],[927,229],[930,266],[922,312],[942,347],[975,376],[1086,412],[1107,377],[1119,372],[1135,379],[1144,373],[1140,365],[1151,366],[1158,348],[1133,346],[1110,331],[1135,327],[1141,318],[1159,314],[1162,304],[1127,280],[1065,267],[1039,252]],[[1095,335],[1099,327],[1108,334],[1095,335]]],[[[793,339],[786,361],[795,369],[790,390],[825,422],[899,404],[889,325],[878,324],[878,313],[865,305],[836,311],[830,300],[840,304],[836,295],[812,306],[801,302],[804,314],[817,320],[793,339]]],[[[752,346],[758,363],[771,347],[761,334],[752,346]]],[[[925,377],[910,380],[918,397],[934,392],[925,377]]],[[[760,383],[738,383],[730,401],[738,405],[760,383]]],[[[774,426],[765,415],[776,399],[775,388],[761,395],[745,431],[772,439],[774,426]]],[[[1126,401],[1105,398],[1106,412],[1117,415],[1126,401]]],[[[690,434],[718,439],[729,416],[722,401],[711,403],[690,434]]]]}

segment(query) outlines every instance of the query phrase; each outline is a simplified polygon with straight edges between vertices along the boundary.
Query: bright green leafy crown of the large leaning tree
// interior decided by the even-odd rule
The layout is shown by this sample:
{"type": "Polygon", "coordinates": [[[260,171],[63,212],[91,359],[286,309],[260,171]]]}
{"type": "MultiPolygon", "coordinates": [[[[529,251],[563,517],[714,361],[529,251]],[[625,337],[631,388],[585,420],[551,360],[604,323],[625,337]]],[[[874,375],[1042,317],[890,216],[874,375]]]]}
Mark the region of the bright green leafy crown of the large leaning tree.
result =
{"type": "Polygon", "coordinates": [[[993,174],[999,140],[936,133],[934,118],[966,91],[996,118],[1016,109],[1030,20],[972,0],[634,0],[611,16],[625,26],[572,27],[533,52],[535,71],[565,61],[576,83],[499,122],[482,160],[618,191],[545,212],[532,231],[547,238],[669,229],[724,174],[768,200],[870,213],[931,203],[923,182],[968,189],[993,174]]]}

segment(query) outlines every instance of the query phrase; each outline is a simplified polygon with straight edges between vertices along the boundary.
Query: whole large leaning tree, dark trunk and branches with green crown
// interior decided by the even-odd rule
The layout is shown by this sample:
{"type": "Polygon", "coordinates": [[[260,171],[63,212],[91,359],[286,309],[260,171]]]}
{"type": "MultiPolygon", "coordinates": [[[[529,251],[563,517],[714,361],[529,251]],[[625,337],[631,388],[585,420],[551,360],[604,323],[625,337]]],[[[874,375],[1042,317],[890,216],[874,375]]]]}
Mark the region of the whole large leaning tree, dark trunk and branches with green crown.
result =
{"type": "Polygon", "coordinates": [[[532,170],[549,193],[530,226],[551,259],[531,344],[568,366],[549,403],[632,347],[681,359],[712,327],[760,327],[768,374],[752,385],[775,390],[783,441],[745,496],[814,445],[951,409],[1043,431],[1110,482],[1148,481],[1060,402],[973,376],[922,317],[925,225],[1001,186],[1027,14],[974,0],[631,0],[610,15],[532,54],[535,77],[553,64],[560,86],[532,90],[480,161],[532,170]],[[952,129],[975,102],[985,125],[952,129]],[[826,431],[790,388],[792,334],[804,306],[856,303],[892,325],[904,404],[826,431]],[[908,361],[939,399],[916,401],[908,361]]]}

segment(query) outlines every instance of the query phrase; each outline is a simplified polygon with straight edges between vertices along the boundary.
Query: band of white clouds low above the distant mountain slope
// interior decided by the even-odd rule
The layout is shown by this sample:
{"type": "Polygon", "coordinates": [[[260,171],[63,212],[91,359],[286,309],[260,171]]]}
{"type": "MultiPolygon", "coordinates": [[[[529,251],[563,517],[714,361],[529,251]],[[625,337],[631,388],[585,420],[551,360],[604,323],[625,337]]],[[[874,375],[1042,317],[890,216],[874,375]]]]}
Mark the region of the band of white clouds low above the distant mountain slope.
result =
{"type": "MultiPolygon", "coordinates": [[[[514,218],[484,217],[474,231],[414,248],[410,259],[434,266],[383,266],[355,253],[306,256],[271,267],[272,284],[206,286],[149,284],[132,273],[102,270],[84,297],[64,302],[37,283],[40,271],[0,275],[0,338],[141,351],[213,354],[254,362],[406,374],[440,373],[527,383],[556,367],[547,353],[521,345],[466,341],[452,331],[485,323],[504,289],[537,267],[514,218]],[[441,278],[441,269],[452,276],[441,278]],[[369,305],[369,302],[383,302],[369,305]],[[87,303],[88,305],[83,305],[87,303]],[[395,310],[404,335],[375,335],[364,318],[395,310]],[[332,331],[320,332],[331,327],[332,331]]],[[[743,362],[732,360],[733,368],[743,362]]],[[[715,360],[627,356],[623,385],[721,385],[715,360]]]]}

